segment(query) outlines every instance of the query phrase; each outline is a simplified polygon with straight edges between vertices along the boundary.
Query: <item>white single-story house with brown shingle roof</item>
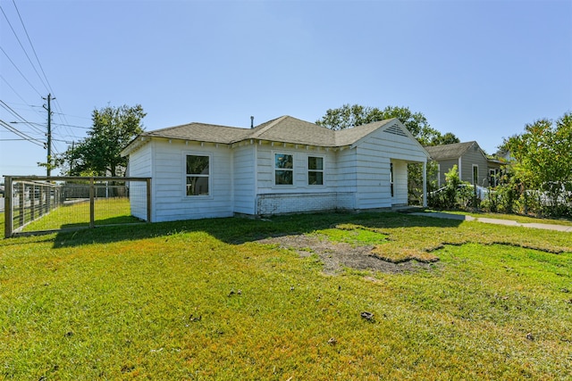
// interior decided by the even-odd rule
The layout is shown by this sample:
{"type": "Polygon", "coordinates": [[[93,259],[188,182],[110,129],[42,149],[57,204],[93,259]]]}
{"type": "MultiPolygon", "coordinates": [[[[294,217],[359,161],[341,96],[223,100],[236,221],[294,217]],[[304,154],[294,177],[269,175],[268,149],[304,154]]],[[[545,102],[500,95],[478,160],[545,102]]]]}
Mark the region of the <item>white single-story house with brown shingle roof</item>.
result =
{"type": "MultiPolygon", "coordinates": [[[[391,209],[408,203],[408,163],[425,173],[428,159],[396,119],[333,131],[290,116],[254,128],[190,123],[145,132],[122,155],[129,176],[152,178],[154,222],[391,209]]],[[[130,197],[142,192],[134,184],[130,197]]],[[[144,219],[138,205],[131,212],[144,219]]]]}

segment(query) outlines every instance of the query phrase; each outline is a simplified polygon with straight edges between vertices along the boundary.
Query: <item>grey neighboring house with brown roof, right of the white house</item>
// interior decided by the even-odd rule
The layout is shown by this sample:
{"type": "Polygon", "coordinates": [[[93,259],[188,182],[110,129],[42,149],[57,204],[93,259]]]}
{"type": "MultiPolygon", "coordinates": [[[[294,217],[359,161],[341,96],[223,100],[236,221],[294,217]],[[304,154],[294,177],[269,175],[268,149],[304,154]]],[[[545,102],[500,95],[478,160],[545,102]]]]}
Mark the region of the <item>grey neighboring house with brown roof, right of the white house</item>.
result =
{"type": "Polygon", "coordinates": [[[431,159],[437,162],[438,186],[445,185],[445,174],[457,164],[458,177],[478,186],[497,186],[501,162],[488,159],[476,142],[426,146],[431,159]]]}

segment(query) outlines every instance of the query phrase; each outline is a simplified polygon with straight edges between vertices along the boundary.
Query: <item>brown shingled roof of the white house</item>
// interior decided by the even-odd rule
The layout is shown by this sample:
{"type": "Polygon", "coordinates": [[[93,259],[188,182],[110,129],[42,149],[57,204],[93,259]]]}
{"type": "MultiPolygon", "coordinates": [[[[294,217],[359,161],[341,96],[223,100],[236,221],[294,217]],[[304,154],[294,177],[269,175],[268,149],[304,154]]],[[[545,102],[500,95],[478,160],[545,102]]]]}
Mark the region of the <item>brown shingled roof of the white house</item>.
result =
{"type": "Polygon", "coordinates": [[[231,145],[248,139],[290,143],[295,145],[315,145],[341,147],[353,145],[378,128],[391,127],[396,119],[380,120],[354,128],[334,131],[305,120],[285,115],[268,120],[255,128],[227,127],[206,123],[189,123],[170,128],[144,132],[125,147],[122,155],[127,155],[139,145],[145,144],[147,137],[192,140],[198,142],[231,145]]]}

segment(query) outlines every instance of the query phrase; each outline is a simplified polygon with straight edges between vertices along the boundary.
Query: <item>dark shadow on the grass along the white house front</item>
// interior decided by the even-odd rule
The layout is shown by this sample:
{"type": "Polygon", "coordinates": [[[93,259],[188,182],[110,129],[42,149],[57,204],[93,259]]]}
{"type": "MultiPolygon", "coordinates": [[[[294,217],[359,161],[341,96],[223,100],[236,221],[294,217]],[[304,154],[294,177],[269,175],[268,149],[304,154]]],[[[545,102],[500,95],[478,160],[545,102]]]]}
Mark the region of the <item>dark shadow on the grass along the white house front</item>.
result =
{"type": "Polygon", "coordinates": [[[60,232],[55,248],[81,244],[106,244],[157,236],[172,236],[185,232],[206,232],[227,244],[244,244],[272,236],[307,234],[341,223],[356,222],[371,228],[434,227],[454,228],[462,221],[435,219],[399,212],[315,213],[275,216],[271,219],[189,219],[174,222],[123,225],[60,232]]]}

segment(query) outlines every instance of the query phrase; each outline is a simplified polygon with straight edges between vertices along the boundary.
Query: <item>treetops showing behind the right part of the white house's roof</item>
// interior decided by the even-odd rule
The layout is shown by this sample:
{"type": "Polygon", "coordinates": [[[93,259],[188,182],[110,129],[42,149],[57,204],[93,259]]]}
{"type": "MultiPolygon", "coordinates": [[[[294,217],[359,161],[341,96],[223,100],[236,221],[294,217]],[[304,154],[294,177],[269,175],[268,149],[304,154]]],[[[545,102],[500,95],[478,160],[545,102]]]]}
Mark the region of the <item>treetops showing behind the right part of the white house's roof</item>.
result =
{"type": "Polygon", "coordinates": [[[324,117],[316,120],[315,124],[339,130],[391,118],[400,120],[422,145],[458,143],[458,138],[455,135],[448,132],[442,136],[441,132],[429,125],[423,113],[411,112],[408,107],[387,106],[381,110],[377,107],[359,104],[344,104],[340,108],[326,111],[324,117]],[[441,143],[442,141],[447,143],[441,143]]]}

